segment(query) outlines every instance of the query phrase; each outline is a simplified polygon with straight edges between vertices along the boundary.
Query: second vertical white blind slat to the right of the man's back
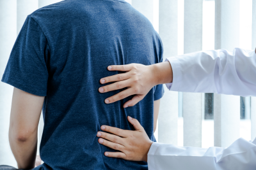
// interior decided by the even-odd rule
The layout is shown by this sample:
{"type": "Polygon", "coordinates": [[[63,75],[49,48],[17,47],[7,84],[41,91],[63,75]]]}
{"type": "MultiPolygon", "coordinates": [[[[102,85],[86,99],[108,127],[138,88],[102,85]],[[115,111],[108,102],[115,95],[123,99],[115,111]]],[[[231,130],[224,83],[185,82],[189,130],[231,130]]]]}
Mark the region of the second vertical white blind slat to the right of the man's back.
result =
{"type": "MultiPolygon", "coordinates": [[[[184,53],[202,50],[203,0],[184,1],[184,53]]],[[[184,146],[202,146],[202,94],[183,93],[184,146]]]]}

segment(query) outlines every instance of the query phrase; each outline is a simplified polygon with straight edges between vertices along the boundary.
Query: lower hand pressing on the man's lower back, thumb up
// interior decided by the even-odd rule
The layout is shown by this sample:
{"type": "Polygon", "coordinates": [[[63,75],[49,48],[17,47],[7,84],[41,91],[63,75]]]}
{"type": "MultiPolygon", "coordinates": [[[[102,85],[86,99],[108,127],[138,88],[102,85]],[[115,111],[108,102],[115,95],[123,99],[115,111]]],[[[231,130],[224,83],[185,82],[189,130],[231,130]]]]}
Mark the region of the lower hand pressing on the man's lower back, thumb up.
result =
{"type": "Polygon", "coordinates": [[[106,157],[147,162],[147,154],[153,142],[148,138],[138,120],[131,117],[128,117],[128,120],[134,126],[135,131],[102,125],[101,130],[105,132],[97,133],[99,143],[120,151],[105,152],[104,155],[106,157]]]}

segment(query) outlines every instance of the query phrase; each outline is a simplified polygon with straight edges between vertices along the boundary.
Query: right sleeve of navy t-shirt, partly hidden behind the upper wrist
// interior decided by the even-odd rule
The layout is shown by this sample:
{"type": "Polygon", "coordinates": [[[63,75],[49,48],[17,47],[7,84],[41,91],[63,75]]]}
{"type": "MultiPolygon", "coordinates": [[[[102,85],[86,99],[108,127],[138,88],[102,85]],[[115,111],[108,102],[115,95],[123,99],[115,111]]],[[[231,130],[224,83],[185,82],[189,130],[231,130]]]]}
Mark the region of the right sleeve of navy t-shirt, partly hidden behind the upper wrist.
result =
{"type": "MultiPolygon", "coordinates": [[[[158,52],[157,52],[158,56],[157,56],[156,63],[163,62],[163,43],[162,43],[160,37],[159,37],[158,45],[159,45],[159,48],[158,48],[158,52]]],[[[157,101],[163,97],[164,87],[163,87],[163,85],[157,85],[154,88],[156,88],[155,92],[154,92],[154,101],[157,101]]]]}

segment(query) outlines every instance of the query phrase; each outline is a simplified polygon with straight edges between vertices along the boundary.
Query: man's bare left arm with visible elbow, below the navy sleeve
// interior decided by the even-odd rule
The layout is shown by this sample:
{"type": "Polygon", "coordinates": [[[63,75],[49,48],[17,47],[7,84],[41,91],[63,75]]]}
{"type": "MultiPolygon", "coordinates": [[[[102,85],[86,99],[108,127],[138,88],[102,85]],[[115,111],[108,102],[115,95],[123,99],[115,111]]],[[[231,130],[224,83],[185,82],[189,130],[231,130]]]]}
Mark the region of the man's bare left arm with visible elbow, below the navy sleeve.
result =
{"type": "Polygon", "coordinates": [[[37,128],[44,97],[13,89],[9,141],[20,169],[33,169],[36,160],[37,128]]]}

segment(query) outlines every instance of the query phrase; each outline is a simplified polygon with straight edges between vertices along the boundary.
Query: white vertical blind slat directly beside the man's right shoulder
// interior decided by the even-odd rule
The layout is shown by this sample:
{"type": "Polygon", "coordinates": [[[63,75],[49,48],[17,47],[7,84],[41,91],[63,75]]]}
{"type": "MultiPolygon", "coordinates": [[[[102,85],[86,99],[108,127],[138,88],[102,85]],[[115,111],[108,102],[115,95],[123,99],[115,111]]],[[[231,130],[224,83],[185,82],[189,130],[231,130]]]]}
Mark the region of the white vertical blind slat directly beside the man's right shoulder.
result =
{"type": "MultiPolygon", "coordinates": [[[[159,1],[159,36],[163,41],[164,59],[178,53],[178,1],[159,1]]],[[[158,139],[161,143],[177,145],[179,94],[164,85],[159,111],[158,139]]]]}

